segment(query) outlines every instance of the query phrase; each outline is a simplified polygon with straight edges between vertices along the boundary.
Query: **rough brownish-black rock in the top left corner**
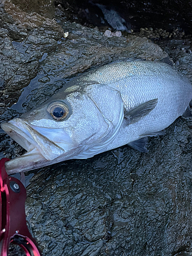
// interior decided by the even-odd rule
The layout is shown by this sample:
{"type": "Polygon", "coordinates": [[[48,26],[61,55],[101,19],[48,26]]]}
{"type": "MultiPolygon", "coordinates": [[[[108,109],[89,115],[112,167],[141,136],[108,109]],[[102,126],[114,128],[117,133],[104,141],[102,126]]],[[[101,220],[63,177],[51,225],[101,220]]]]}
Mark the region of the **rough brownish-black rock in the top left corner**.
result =
{"type": "Polygon", "coordinates": [[[64,32],[54,20],[26,13],[11,1],[0,5],[0,16],[0,79],[5,81],[0,105],[5,106],[17,101],[20,90],[36,76],[39,59],[55,50],[64,32]]]}

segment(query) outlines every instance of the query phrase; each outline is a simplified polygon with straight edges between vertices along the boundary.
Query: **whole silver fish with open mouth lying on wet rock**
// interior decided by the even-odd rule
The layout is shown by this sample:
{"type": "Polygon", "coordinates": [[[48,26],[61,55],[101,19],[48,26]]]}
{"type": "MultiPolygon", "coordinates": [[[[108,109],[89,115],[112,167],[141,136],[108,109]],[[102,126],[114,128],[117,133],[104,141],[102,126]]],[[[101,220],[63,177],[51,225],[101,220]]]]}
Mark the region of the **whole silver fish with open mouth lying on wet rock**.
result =
{"type": "Polygon", "coordinates": [[[190,81],[168,61],[125,59],[70,80],[49,100],[1,124],[26,154],[6,162],[8,174],[122,145],[148,152],[147,137],[190,113],[190,81]]]}

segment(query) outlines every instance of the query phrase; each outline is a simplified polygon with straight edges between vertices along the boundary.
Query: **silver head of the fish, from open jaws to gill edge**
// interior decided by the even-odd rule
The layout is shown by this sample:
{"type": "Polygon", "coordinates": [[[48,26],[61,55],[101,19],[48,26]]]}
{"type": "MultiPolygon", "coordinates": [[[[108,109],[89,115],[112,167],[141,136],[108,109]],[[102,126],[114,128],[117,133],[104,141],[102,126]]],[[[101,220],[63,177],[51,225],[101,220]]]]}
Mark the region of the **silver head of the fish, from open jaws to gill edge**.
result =
{"type": "Polygon", "coordinates": [[[114,136],[117,126],[119,129],[119,114],[123,113],[120,94],[107,90],[114,100],[109,98],[106,103],[112,95],[101,93],[101,87],[70,87],[20,118],[2,123],[2,129],[27,151],[6,163],[7,172],[22,172],[100,153],[100,147],[114,136]]]}

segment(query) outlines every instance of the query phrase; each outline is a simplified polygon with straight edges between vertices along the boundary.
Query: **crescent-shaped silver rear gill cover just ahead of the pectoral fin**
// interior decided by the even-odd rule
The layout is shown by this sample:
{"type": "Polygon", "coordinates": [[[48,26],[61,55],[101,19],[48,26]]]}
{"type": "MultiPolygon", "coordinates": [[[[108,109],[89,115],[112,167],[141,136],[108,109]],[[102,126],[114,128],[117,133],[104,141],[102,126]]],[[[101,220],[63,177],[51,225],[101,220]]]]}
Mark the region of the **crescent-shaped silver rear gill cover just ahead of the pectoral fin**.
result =
{"type": "Polygon", "coordinates": [[[86,87],[86,95],[94,102],[104,121],[108,124],[105,134],[100,141],[92,143],[92,146],[81,152],[74,158],[90,158],[103,151],[103,148],[113,142],[120,130],[124,112],[121,93],[105,84],[89,84],[86,87]]]}

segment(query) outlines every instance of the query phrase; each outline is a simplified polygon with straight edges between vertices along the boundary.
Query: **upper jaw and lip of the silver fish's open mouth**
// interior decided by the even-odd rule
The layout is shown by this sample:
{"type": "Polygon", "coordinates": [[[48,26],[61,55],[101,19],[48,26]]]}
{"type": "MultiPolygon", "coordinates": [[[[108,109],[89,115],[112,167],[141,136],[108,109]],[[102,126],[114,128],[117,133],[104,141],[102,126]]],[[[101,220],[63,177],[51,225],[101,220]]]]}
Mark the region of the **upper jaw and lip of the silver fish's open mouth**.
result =
{"type": "Polygon", "coordinates": [[[14,118],[9,122],[4,122],[1,127],[11,138],[28,151],[26,153],[28,155],[36,148],[36,155],[39,154],[41,158],[44,157],[46,160],[51,161],[65,153],[63,148],[38,133],[22,118],[14,118]]]}

